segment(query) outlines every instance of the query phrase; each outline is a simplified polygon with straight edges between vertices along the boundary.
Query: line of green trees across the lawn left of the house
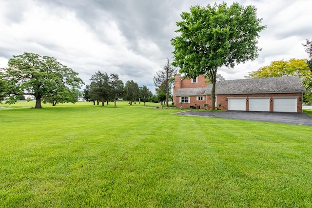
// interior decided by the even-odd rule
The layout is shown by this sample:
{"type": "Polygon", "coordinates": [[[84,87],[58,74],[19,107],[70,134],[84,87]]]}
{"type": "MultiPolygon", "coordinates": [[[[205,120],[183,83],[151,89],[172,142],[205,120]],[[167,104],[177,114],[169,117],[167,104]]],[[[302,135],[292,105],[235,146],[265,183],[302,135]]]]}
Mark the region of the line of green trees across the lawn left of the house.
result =
{"type": "MultiPolygon", "coordinates": [[[[8,67],[0,69],[0,102],[13,104],[18,100],[25,100],[24,95],[31,95],[36,99],[35,108],[42,108],[41,102],[57,103],[77,102],[77,97],[83,95],[87,101],[114,101],[117,98],[129,100],[129,104],[137,100],[144,102],[163,101],[163,96],[153,95],[145,86],[139,87],[133,80],[125,84],[117,74],[97,72],[90,78],[91,83],[84,85],[78,73],[61,64],[56,58],[40,56],[34,53],[24,53],[13,56],[8,60],[8,67]]],[[[160,91],[158,91],[160,92],[160,91]]],[[[29,98],[28,98],[29,99],[29,98]]]]}

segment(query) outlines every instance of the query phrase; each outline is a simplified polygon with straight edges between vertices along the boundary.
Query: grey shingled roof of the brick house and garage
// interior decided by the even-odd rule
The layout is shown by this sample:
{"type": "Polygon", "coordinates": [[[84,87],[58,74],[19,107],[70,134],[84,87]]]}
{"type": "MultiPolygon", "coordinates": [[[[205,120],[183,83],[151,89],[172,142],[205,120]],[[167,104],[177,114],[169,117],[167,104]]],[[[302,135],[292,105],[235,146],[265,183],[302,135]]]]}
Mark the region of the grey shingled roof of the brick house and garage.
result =
{"type": "MultiPolygon", "coordinates": [[[[176,96],[211,95],[212,84],[208,84],[203,94],[195,94],[190,88],[178,89],[176,96]],[[181,91],[180,91],[181,90],[181,91]],[[192,92],[193,94],[187,94],[192,92]]],[[[200,92],[200,91],[198,91],[200,92]]],[[[215,84],[215,95],[228,94],[269,94],[269,93],[303,93],[306,92],[299,76],[282,76],[255,79],[237,79],[218,81],[215,84]]]]}

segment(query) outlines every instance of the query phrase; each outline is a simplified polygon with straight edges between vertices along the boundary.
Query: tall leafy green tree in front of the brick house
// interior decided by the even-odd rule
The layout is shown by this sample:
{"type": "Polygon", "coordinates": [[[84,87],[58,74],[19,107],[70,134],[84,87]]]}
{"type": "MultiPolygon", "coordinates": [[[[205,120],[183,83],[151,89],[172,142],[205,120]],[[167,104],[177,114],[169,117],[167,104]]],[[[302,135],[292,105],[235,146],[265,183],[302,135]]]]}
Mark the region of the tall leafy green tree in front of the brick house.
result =
{"type": "Polygon", "coordinates": [[[260,25],[262,19],[256,17],[254,6],[238,3],[230,7],[226,3],[192,6],[181,18],[176,23],[180,35],[171,40],[175,48],[173,65],[187,77],[210,78],[214,109],[217,69],[233,68],[236,63],[258,57],[257,38],[265,26],[260,25]]]}

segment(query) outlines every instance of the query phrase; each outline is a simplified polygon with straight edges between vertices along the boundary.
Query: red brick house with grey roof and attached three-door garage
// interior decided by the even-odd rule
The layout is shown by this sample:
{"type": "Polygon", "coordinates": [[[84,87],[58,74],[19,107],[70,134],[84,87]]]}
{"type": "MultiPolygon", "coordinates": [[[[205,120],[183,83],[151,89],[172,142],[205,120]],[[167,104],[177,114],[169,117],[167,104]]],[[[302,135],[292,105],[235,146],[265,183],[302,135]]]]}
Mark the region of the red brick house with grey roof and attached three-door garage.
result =
{"type": "MultiPolygon", "coordinates": [[[[208,109],[211,109],[212,84],[208,84],[208,80],[203,76],[189,79],[176,75],[176,106],[203,109],[204,104],[207,104],[208,109]]],[[[305,88],[298,76],[217,81],[215,106],[225,111],[302,113],[304,92],[305,88]]]]}

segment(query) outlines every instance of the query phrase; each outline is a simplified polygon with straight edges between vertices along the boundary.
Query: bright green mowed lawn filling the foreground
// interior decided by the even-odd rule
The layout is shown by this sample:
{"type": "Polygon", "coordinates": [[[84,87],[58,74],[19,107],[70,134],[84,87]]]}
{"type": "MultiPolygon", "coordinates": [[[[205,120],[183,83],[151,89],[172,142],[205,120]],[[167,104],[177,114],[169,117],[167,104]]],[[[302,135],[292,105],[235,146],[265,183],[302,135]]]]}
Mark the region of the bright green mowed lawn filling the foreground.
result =
{"type": "Polygon", "coordinates": [[[0,110],[0,207],[312,207],[312,127],[28,105],[0,110]]]}

